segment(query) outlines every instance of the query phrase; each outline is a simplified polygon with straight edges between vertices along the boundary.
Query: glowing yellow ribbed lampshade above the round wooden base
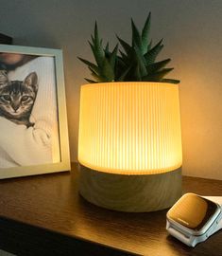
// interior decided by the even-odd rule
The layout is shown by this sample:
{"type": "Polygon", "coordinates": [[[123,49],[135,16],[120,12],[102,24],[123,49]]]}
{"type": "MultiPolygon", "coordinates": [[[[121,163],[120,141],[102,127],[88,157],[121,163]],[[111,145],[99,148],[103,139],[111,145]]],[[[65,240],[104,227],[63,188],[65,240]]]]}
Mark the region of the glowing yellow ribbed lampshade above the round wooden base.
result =
{"type": "Polygon", "coordinates": [[[178,85],[81,86],[78,160],[113,174],[159,174],[181,166],[178,85]]]}

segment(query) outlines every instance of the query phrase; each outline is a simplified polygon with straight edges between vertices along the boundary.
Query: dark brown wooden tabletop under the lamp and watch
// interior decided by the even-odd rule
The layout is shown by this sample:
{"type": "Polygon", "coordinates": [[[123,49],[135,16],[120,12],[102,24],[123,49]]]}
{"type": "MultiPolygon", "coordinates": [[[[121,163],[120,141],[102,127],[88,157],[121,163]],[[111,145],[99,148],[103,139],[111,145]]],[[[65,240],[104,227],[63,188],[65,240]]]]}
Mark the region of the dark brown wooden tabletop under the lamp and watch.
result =
{"type": "MultiPolygon", "coordinates": [[[[222,231],[195,248],[165,230],[166,210],[98,208],[77,192],[72,172],[0,181],[0,248],[17,255],[222,255],[222,231]]],[[[183,192],[222,195],[222,181],[183,177],[183,192]]]]}

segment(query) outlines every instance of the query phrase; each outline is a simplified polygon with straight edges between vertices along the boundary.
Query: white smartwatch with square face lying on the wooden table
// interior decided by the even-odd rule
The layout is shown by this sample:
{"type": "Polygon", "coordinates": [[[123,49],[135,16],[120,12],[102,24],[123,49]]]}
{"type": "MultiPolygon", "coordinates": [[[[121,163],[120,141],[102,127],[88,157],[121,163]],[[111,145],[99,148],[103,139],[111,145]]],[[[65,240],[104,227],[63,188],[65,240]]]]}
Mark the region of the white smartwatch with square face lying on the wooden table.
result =
{"type": "Polygon", "coordinates": [[[166,230],[189,247],[222,229],[222,196],[185,193],[166,214],[166,230]]]}

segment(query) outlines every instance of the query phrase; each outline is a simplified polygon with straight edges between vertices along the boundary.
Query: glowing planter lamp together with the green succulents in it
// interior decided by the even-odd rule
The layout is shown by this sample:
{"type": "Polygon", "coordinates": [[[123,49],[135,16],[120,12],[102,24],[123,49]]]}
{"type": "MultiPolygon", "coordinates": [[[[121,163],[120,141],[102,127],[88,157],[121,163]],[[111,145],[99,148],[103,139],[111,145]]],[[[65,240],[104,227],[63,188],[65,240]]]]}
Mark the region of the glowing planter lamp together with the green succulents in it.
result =
{"type": "Polygon", "coordinates": [[[81,86],[79,190],[112,210],[161,210],[181,193],[179,80],[165,78],[170,59],[156,61],[163,45],[149,40],[150,17],[141,32],[131,19],[122,50],[104,47],[95,23],[95,64],[78,58],[93,76],[81,86]]]}

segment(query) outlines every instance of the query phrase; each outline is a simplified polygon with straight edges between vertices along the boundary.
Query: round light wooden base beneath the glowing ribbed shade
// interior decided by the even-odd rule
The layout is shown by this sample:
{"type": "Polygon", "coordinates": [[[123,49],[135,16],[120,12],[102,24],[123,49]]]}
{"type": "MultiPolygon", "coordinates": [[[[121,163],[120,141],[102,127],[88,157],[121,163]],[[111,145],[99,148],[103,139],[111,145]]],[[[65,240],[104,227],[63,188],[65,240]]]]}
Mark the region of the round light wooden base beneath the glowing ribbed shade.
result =
{"type": "Polygon", "coordinates": [[[181,196],[181,168],[163,174],[109,174],[79,165],[79,193],[110,210],[148,212],[171,207],[181,196]]]}

